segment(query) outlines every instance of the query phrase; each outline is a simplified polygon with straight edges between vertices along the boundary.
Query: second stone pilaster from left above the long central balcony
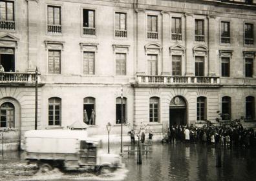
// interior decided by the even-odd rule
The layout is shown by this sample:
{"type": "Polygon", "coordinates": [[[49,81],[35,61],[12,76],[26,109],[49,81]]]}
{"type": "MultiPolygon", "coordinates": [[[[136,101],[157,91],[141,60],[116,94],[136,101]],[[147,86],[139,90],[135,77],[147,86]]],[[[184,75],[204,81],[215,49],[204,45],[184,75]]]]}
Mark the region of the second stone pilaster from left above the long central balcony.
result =
{"type": "Polygon", "coordinates": [[[171,61],[168,44],[170,41],[170,16],[169,12],[162,14],[162,75],[171,75],[171,61]]]}

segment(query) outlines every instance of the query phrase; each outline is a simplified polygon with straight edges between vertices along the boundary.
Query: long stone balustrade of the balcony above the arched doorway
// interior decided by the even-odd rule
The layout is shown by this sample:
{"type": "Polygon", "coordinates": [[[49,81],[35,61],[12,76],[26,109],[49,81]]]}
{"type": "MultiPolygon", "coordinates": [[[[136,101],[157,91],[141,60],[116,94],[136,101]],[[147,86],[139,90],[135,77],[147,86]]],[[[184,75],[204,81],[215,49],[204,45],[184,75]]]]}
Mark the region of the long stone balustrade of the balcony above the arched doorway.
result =
{"type": "Polygon", "coordinates": [[[219,77],[138,75],[138,84],[220,84],[219,77]]]}

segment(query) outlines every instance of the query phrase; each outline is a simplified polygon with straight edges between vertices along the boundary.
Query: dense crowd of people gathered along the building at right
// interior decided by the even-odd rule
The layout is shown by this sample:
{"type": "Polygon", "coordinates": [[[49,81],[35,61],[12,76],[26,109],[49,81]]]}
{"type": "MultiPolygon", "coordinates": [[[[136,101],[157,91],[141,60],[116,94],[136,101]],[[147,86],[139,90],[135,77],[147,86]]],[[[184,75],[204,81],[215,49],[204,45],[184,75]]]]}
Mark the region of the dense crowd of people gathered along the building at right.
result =
{"type": "Polygon", "coordinates": [[[237,122],[222,126],[204,125],[200,128],[193,124],[171,126],[162,142],[175,143],[177,141],[213,145],[220,143],[224,147],[250,148],[256,146],[256,132],[253,129],[243,128],[242,124],[237,122]]]}

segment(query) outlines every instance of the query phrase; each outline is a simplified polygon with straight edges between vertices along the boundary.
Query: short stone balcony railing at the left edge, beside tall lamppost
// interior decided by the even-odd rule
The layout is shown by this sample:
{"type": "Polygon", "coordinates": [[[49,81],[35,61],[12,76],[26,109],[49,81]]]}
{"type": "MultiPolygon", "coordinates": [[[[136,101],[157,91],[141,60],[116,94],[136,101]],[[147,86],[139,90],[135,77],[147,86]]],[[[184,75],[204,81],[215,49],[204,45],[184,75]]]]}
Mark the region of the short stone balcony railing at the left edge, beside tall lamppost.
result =
{"type": "Polygon", "coordinates": [[[0,84],[1,83],[32,83],[32,82],[36,82],[36,73],[17,73],[17,72],[0,73],[0,84]]]}

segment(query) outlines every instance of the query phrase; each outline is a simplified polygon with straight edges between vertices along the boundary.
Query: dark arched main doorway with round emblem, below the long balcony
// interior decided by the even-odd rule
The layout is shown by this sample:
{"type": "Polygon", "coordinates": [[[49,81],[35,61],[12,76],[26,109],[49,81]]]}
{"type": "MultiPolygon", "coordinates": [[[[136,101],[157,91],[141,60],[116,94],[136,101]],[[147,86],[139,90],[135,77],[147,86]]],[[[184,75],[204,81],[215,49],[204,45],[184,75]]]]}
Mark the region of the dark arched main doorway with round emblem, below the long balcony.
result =
{"type": "Polygon", "coordinates": [[[183,97],[176,96],[170,102],[169,126],[187,124],[187,104],[183,97]]]}

